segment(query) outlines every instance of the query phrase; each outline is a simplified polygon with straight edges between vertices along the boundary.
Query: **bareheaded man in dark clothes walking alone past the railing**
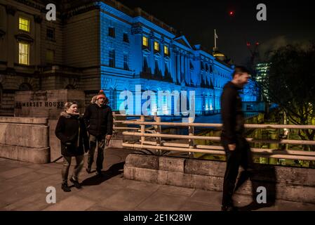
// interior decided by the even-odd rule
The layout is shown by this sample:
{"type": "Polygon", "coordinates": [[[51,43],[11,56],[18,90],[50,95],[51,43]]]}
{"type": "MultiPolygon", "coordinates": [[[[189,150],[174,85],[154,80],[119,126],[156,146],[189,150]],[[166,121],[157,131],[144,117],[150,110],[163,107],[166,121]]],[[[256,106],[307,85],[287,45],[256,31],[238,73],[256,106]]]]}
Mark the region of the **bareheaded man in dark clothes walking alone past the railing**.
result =
{"type": "Polygon", "coordinates": [[[244,138],[244,117],[239,90],[248,83],[249,71],[237,66],[231,82],[225,84],[221,96],[222,134],[221,142],[227,158],[227,168],[224,174],[222,210],[236,210],[232,195],[236,178],[241,165],[244,172],[250,175],[252,155],[250,146],[244,138]]]}

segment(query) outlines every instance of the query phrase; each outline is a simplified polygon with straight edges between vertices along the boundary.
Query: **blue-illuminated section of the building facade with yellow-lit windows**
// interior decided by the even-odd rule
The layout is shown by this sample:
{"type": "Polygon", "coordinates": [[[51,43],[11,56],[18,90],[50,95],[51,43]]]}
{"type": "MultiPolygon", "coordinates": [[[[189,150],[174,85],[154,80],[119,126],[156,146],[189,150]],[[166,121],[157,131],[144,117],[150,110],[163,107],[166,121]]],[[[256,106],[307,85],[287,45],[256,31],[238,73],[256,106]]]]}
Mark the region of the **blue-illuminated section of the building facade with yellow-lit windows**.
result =
{"type": "MultiPolygon", "coordinates": [[[[101,89],[114,110],[128,98],[119,98],[121,92],[135,95],[136,85],[142,92],[195,91],[196,114],[220,110],[222,88],[232,79],[233,66],[217,60],[200,45],[190,44],[184,35],[178,36],[172,27],[140,8],[121,11],[105,2],[98,4],[101,89]]],[[[256,101],[251,94],[242,98],[256,101]]],[[[133,108],[142,103],[135,101],[133,108]]],[[[173,103],[152,103],[151,113],[170,115],[170,105],[173,103]]],[[[137,110],[128,112],[127,108],[127,113],[137,114],[137,110]]]]}

